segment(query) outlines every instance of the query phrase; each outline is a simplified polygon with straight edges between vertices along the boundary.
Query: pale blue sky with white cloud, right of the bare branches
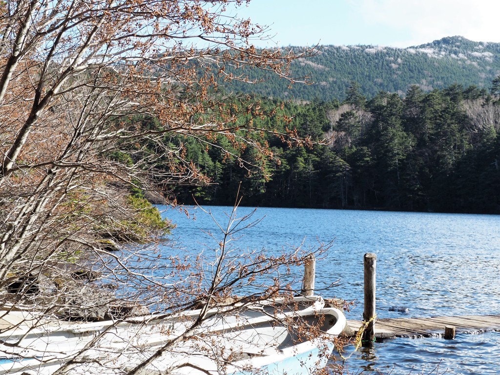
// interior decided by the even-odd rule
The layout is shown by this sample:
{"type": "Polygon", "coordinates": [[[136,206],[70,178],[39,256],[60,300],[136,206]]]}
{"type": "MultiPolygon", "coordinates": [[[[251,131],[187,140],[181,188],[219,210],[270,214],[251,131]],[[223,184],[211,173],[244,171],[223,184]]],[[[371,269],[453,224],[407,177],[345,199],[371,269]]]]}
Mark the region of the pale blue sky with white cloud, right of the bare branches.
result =
{"type": "Polygon", "coordinates": [[[498,0],[251,0],[238,16],[269,26],[256,46],[407,47],[460,35],[500,42],[498,0]]]}

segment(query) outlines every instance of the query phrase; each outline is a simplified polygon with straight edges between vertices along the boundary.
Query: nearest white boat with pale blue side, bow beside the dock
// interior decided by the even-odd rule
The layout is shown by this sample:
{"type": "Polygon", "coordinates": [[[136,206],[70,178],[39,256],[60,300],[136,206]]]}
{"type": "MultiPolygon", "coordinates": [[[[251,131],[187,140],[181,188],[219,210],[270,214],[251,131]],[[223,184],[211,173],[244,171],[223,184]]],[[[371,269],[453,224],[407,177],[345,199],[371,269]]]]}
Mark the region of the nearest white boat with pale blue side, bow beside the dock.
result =
{"type": "Polygon", "coordinates": [[[311,375],[326,365],[345,317],[336,308],[323,307],[293,320],[296,325],[261,320],[220,335],[213,332],[201,342],[189,342],[178,355],[163,354],[141,374],[311,375]],[[313,333],[314,338],[308,339],[306,330],[310,327],[320,329],[321,334],[313,333]],[[209,355],[214,351],[219,353],[216,359],[209,355]]]}

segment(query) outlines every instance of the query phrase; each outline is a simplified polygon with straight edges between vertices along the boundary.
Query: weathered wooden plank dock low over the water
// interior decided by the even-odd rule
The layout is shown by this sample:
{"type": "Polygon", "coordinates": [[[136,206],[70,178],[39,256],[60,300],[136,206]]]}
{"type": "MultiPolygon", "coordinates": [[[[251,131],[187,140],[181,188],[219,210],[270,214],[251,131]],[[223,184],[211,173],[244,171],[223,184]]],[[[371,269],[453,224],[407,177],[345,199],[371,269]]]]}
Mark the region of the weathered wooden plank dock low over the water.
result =
{"type": "MultiPolygon", "coordinates": [[[[346,333],[354,334],[362,321],[348,320],[347,324],[351,332],[346,333]]],[[[500,330],[500,314],[376,319],[374,333],[376,338],[441,337],[446,326],[455,327],[457,333],[500,330]]]]}

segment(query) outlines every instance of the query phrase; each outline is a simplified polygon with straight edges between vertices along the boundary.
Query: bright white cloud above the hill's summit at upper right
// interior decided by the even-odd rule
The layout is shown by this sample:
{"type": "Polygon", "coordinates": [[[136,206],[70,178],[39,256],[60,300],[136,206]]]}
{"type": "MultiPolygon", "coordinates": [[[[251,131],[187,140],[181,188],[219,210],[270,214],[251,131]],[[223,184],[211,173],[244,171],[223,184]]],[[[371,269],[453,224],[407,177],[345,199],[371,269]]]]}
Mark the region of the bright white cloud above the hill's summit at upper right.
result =
{"type": "Polygon", "coordinates": [[[500,1],[491,0],[358,0],[364,22],[372,27],[404,31],[407,40],[394,46],[409,46],[461,35],[475,41],[500,42],[500,1]]]}

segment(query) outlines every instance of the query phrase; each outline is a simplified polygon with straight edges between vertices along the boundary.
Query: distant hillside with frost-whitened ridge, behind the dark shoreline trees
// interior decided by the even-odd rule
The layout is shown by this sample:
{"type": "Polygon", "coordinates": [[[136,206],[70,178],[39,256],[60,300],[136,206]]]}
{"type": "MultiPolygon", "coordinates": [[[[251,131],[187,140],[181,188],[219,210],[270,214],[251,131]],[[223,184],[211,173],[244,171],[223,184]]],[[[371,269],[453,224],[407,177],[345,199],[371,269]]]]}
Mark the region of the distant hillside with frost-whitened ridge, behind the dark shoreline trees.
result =
{"type": "MultiPolygon", "coordinates": [[[[227,73],[232,72],[231,66],[225,69],[227,73]]],[[[225,85],[225,89],[281,99],[329,101],[342,99],[352,81],[359,83],[364,95],[372,97],[379,91],[402,95],[412,84],[424,91],[454,83],[489,88],[491,80],[499,73],[500,43],[475,42],[453,36],[407,48],[326,45],[318,48],[315,56],[291,64],[292,76],[310,75],[312,83],[309,85],[294,84],[288,88],[288,81],[253,69],[249,70],[250,78],[263,82],[233,81],[225,85]]]]}

